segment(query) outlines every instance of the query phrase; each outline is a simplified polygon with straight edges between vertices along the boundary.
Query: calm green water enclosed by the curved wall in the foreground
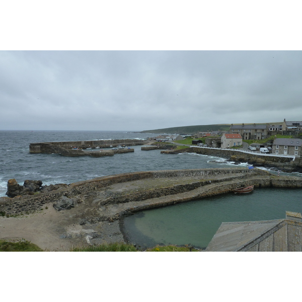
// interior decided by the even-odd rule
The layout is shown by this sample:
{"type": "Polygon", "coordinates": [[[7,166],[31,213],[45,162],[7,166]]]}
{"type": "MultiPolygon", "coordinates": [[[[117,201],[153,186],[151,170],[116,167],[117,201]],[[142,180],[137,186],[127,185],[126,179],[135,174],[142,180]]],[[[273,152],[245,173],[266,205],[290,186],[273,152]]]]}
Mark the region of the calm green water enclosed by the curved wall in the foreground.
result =
{"type": "Polygon", "coordinates": [[[193,245],[206,248],[221,222],[285,218],[302,212],[302,189],[255,188],[249,194],[223,194],[162,208],[144,210],[124,219],[130,243],[193,245]]]}

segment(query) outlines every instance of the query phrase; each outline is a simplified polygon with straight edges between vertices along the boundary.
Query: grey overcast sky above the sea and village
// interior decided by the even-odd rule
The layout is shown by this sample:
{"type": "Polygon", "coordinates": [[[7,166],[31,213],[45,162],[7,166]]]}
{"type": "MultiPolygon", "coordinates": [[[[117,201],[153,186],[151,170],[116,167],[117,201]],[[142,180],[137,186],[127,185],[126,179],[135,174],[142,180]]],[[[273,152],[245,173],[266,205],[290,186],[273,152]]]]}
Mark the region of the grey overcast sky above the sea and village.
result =
{"type": "Polygon", "coordinates": [[[0,129],[302,120],[301,51],[0,51],[0,129]]]}

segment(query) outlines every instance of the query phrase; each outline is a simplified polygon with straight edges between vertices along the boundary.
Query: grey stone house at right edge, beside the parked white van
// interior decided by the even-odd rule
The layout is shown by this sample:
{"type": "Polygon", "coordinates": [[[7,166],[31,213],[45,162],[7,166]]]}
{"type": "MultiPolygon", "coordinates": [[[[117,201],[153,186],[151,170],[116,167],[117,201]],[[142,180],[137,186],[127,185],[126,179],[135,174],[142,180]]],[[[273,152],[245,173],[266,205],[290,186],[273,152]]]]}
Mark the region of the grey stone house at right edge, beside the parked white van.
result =
{"type": "Polygon", "coordinates": [[[272,145],[272,154],[301,155],[302,139],[276,138],[272,145]]]}

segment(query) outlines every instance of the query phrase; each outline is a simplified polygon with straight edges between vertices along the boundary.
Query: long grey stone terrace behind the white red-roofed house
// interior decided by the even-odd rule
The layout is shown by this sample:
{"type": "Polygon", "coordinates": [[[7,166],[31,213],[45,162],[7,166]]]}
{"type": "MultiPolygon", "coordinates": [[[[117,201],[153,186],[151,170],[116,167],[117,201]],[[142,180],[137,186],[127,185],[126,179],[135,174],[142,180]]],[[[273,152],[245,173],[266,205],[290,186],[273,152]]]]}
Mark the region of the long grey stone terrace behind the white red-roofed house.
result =
{"type": "Polygon", "coordinates": [[[240,134],[243,139],[263,139],[267,137],[267,125],[249,124],[231,125],[230,133],[240,134]]]}

